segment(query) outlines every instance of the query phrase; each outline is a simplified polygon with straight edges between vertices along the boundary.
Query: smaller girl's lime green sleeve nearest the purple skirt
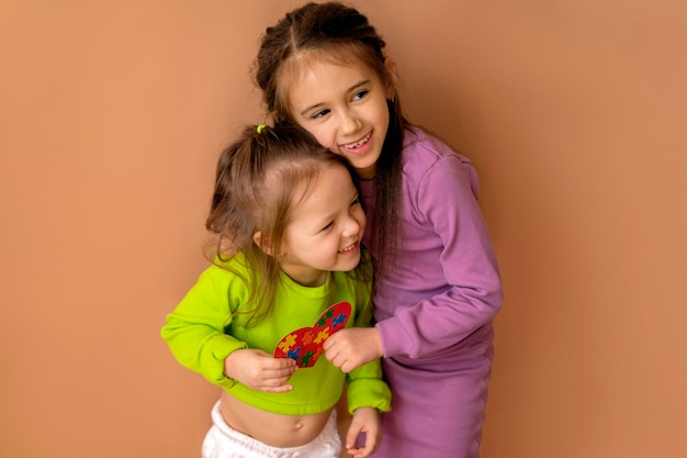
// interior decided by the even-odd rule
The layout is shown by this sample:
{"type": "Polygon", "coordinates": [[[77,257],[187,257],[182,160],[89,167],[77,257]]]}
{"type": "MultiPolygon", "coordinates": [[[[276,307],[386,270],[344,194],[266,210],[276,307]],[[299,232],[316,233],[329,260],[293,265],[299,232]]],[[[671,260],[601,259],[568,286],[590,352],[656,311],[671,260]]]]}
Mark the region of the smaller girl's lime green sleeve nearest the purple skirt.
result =
{"type": "MultiPolygon", "coordinates": [[[[360,289],[357,292],[360,292],[360,289]]],[[[360,303],[362,306],[357,309],[353,326],[371,327],[372,301],[370,295],[367,294],[360,303]]],[[[382,378],[380,359],[351,370],[347,375],[347,382],[348,411],[351,415],[359,407],[374,407],[380,412],[391,411],[391,389],[382,378]]]]}

